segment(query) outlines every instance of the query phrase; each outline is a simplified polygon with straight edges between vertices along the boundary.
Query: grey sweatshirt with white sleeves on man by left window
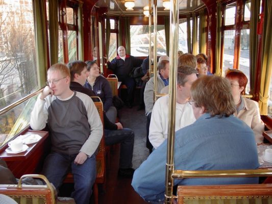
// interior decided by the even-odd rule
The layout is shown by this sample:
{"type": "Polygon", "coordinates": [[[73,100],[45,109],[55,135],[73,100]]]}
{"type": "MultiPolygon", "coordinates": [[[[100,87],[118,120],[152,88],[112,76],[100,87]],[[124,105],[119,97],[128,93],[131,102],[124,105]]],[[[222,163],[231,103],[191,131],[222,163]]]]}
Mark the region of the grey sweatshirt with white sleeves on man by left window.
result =
{"type": "Polygon", "coordinates": [[[103,125],[93,101],[84,93],[76,92],[65,100],[56,96],[38,96],[31,113],[33,130],[50,128],[52,150],[73,155],[80,151],[94,154],[102,135],[103,125]]]}

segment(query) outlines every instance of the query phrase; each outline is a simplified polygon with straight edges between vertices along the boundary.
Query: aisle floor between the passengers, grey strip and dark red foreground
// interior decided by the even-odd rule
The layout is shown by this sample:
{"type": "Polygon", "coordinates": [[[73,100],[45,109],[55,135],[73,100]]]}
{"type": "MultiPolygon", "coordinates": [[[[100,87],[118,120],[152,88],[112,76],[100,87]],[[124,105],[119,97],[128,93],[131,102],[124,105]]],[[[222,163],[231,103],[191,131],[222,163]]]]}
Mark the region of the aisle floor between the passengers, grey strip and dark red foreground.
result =
{"type": "MultiPolygon", "coordinates": [[[[149,150],[145,147],[146,117],[144,110],[137,111],[137,108],[137,106],[134,106],[132,109],[124,107],[118,112],[118,117],[123,127],[132,129],[135,134],[132,160],[132,166],[135,169],[149,156],[149,150]]],[[[147,203],[132,188],[132,179],[117,176],[119,150],[119,146],[111,148],[110,165],[107,167],[106,192],[100,186],[98,202],[100,204],[147,203]]]]}

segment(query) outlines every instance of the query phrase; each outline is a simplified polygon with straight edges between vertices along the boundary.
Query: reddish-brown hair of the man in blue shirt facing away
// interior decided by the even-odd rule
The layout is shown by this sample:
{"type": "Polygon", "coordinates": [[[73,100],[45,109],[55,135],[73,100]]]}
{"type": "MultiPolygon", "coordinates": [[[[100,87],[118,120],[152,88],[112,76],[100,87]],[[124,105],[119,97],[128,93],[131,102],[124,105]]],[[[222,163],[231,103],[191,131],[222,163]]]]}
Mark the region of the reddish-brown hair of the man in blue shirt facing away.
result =
{"type": "Polygon", "coordinates": [[[204,107],[212,117],[229,117],[235,111],[230,82],[216,75],[204,76],[193,82],[191,96],[195,107],[204,107]]]}

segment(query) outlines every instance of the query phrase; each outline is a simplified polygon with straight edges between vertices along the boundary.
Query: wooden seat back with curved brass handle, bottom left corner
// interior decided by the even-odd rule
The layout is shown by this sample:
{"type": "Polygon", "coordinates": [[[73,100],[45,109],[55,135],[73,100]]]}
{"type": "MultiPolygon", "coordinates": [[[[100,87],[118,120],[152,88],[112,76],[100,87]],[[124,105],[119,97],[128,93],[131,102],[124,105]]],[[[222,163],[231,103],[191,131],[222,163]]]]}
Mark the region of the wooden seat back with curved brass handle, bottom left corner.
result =
{"type": "Polygon", "coordinates": [[[18,185],[0,185],[0,194],[7,195],[17,203],[29,204],[55,204],[55,193],[52,185],[44,175],[26,174],[21,176],[18,185]],[[42,179],[46,185],[22,185],[21,181],[26,177],[42,179]]]}

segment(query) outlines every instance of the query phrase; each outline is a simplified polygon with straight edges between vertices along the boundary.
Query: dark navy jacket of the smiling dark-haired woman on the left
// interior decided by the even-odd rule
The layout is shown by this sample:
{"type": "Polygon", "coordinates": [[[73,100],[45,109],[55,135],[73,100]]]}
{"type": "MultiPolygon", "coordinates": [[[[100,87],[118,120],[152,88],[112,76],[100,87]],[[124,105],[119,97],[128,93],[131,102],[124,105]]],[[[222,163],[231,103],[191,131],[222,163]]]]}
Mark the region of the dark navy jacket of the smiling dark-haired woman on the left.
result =
{"type": "Polygon", "coordinates": [[[98,76],[95,79],[93,87],[91,87],[88,81],[85,82],[84,87],[92,90],[96,96],[99,96],[101,98],[105,112],[107,112],[109,108],[113,106],[110,83],[102,75],[98,76]]]}

